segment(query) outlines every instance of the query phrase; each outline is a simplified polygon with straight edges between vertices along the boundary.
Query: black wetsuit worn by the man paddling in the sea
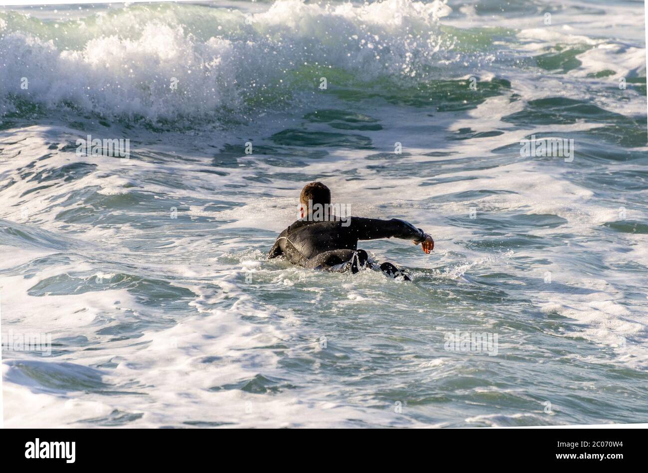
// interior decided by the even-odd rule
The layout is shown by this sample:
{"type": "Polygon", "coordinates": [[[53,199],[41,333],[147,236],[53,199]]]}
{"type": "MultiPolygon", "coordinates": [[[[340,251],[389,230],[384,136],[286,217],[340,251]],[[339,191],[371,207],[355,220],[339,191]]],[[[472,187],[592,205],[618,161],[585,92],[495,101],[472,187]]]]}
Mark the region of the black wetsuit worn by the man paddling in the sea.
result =
{"type": "MultiPolygon", "coordinates": [[[[399,219],[297,220],[279,234],[268,258],[285,255],[291,263],[306,268],[355,273],[369,263],[367,252],[358,250],[358,240],[395,237],[424,241],[425,236],[421,228],[399,219]]],[[[383,263],[380,269],[389,276],[401,275],[391,263],[383,263]]]]}

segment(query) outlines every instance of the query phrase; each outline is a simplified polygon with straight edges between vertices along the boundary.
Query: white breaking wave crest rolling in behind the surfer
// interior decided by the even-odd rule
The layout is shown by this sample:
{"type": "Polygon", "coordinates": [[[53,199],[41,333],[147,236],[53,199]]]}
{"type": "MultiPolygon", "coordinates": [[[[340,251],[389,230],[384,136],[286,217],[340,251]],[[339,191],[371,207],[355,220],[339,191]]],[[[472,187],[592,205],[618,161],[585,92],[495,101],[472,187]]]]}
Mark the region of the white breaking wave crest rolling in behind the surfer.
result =
{"type": "Polygon", "coordinates": [[[277,0],[256,14],[192,5],[137,5],[65,23],[5,14],[0,111],[21,98],[156,122],[240,117],[316,93],[327,74],[333,86],[419,80],[437,65],[438,20],[450,11],[439,0],[277,0]]]}

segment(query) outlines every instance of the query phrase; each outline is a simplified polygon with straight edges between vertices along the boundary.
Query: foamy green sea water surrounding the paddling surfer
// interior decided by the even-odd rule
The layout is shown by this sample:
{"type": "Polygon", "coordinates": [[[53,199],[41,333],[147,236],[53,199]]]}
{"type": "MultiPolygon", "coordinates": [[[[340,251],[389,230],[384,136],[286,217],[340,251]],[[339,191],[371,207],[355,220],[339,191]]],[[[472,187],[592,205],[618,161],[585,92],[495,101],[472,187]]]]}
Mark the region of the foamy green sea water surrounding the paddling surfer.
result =
{"type": "Polygon", "coordinates": [[[645,63],[640,1],[1,9],[5,426],[648,422],[645,63]],[[266,260],[314,180],[411,283],[266,260]]]}

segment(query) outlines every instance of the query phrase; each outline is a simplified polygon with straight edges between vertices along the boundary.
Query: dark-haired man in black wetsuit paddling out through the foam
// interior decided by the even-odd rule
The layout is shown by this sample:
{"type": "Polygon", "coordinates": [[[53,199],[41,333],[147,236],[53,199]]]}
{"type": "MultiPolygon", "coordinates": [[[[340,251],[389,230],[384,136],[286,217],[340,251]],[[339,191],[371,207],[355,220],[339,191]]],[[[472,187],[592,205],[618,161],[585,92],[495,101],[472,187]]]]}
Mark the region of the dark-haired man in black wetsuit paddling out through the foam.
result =
{"type": "MultiPolygon", "coordinates": [[[[365,250],[358,250],[358,240],[378,238],[411,239],[421,243],[426,254],[434,248],[434,240],[421,228],[399,219],[378,220],[363,217],[331,215],[330,190],[321,182],[310,182],[301,190],[301,219],[281,232],[268,258],[284,255],[294,265],[334,272],[358,272],[361,268],[378,267],[369,261],[365,250]]],[[[403,276],[391,263],[379,266],[384,274],[403,276]]]]}

